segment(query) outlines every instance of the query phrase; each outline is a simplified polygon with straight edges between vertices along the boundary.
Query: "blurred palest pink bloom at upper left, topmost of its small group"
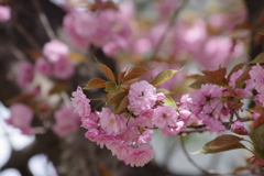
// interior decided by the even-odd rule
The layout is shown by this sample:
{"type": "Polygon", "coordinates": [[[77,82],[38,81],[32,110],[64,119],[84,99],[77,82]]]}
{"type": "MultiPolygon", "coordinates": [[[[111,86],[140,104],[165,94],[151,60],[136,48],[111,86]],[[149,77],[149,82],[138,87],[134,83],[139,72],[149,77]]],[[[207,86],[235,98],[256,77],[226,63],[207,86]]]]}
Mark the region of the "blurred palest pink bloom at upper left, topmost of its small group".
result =
{"type": "Polygon", "coordinates": [[[68,46],[57,40],[53,40],[43,46],[43,54],[51,63],[57,62],[62,57],[67,57],[68,53],[68,46]]]}

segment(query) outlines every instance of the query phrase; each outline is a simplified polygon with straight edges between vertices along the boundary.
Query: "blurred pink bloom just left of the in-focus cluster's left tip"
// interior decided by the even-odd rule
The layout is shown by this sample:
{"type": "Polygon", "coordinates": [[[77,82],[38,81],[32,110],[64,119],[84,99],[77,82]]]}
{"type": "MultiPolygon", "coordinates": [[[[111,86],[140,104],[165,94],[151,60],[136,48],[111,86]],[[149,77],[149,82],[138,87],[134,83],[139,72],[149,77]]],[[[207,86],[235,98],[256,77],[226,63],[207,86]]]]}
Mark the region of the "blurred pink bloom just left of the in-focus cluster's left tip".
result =
{"type": "Polygon", "coordinates": [[[54,113],[56,123],[53,131],[59,136],[65,136],[74,132],[79,127],[79,117],[74,113],[73,108],[63,106],[54,113]]]}

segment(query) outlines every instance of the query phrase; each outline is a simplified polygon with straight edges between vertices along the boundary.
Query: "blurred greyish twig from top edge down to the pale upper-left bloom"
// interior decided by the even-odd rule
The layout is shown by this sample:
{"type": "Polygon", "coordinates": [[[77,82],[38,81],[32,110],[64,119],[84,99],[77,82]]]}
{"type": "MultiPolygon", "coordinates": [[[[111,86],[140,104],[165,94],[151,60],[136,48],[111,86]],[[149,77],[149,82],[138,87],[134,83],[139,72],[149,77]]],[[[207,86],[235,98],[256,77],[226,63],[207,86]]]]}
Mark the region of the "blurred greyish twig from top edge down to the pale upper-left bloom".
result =
{"type": "Polygon", "coordinates": [[[38,13],[38,18],[41,20],[41,23],[42,25],[44,26],[45,31],[46,31],[46,34],[47,36],[51,38],[51,40],[54,40],[56,38],[56,34],[55,32],[53,31],[48,20],[47,20],[47,16],[46,14],[43,12],[40,3],[38,3],[38,0],[32,0],[32,3],[36,10],[36,12],[38,13]]]}

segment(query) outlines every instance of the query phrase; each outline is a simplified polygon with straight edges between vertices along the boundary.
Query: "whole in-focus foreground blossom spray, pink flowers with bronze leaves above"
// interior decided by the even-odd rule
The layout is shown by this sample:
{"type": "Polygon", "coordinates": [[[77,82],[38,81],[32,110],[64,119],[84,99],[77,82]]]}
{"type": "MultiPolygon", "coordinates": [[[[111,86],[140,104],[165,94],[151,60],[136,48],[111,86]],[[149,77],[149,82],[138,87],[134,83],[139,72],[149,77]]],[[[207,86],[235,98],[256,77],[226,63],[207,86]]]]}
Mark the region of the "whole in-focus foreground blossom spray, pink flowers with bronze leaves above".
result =
{"type": "MultiPolygon", "coordinates": [[[[257,62],[260,58],[250,64],[257,62]]],[[[264,69],[258,63],[245,72],[242,68],[246,63],[240,64],[228,76],[221,67],[191,75],[196,81],[190,87],[196,90],[184,95],[179,102],[156,88],[177,70],[167,69],[151,80],[139,80],[148,69],[132,67],[120,73],[117,82],[110,68],[98,64],[111,80],[94,78],[84,89],[106,88],[108,94],[102,100],[106,106],[101,111],[91,110],[90,100],[80,87],[73,92],[72,103],[81,118],[81,127],[88,130],[86,138],[106,146],[131,166],[143,166],[153,158],[154,151],[148,143],[154,129],[161,129],[165,136],[185,132],[194,124],[210,132],[232,129],[239,134],[249,134],[240,117],[244,111],[243,100],[250,98],[263,106],[264,69]],[[253,96],[253,89],[257,95],[253,96]]]]}

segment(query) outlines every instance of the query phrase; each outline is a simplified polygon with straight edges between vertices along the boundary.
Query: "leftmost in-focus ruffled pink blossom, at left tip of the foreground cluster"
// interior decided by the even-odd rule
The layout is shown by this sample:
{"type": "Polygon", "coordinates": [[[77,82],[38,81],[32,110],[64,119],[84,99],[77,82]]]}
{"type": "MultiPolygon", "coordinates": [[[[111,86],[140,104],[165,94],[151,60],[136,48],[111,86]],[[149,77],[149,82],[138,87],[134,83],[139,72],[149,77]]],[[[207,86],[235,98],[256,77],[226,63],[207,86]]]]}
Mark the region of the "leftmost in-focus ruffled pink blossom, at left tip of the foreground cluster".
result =
{"type": "Polygon", "coordinates": [[[74,112],[79,114],[81,118],[88,117],[90,114],[90,100],[86,98],[82,89],[78,86],[77,90],[73,94],[72,105],[74,107],[74,112]]]}

